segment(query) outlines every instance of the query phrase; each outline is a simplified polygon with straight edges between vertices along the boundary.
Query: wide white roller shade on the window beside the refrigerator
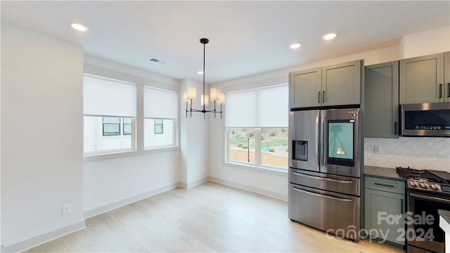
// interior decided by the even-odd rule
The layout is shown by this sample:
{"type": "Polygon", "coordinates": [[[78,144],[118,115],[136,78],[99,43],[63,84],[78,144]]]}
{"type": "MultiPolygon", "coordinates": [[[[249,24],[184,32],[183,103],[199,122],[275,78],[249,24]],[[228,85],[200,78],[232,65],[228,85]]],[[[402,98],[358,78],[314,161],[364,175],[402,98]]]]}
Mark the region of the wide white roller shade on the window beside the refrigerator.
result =
{"type": "Polygon", "coordinates": [[[287,127],[288,85],[226,93],[226,126],[287,127]]]}

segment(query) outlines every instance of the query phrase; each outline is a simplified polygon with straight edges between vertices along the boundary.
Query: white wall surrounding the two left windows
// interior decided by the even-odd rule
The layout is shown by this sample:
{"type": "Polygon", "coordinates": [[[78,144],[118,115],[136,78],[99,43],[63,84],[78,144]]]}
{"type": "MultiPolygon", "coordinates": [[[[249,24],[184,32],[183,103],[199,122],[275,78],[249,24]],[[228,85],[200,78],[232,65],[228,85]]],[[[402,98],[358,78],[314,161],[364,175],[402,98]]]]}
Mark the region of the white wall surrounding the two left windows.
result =
{"type": "MultiPolygon", "coordinates": [[[[137,86],[136,133],[143,136],[143,86],[179,91],[179,81],[114,63],[94,56],[84,57],[84,72],[131,82],[137,86]]],[[[163,110],[163,109],[162,109],[163,110]]],[[[179,148],[143,150],[100,157],[85,157],[83,200],[86,217],[150,197],[179,185],[179,148]]]]}

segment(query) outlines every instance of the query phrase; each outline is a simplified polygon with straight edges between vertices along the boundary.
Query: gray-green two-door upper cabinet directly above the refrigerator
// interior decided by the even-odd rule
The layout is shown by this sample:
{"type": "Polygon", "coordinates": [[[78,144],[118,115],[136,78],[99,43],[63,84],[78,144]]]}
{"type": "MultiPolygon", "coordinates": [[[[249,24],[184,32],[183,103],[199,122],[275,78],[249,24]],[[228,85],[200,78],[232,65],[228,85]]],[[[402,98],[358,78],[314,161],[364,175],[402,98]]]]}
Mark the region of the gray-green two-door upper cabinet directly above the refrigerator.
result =
{"type": "Polygon", "coordinates": [[[290,73],[290,108],[359,104],[361,62],[355,60],[290,73]]]}

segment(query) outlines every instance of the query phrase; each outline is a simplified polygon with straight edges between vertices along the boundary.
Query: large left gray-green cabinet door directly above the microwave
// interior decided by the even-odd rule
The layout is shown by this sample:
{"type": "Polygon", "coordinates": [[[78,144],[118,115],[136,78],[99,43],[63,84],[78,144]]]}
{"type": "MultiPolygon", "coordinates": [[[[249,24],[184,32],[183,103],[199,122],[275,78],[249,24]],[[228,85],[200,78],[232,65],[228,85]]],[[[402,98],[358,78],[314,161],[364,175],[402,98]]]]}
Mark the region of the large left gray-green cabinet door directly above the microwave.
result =
{"type": "MultiPolygon", "coordinates": [[[[450,84],[444,84],[444,54],[448,58],[448,53],[437,53],[400,60],[401,104],[449,100],[447,95],[450,84]]],[[[448,64],[445,68],[449,72],[448,64]]]]}

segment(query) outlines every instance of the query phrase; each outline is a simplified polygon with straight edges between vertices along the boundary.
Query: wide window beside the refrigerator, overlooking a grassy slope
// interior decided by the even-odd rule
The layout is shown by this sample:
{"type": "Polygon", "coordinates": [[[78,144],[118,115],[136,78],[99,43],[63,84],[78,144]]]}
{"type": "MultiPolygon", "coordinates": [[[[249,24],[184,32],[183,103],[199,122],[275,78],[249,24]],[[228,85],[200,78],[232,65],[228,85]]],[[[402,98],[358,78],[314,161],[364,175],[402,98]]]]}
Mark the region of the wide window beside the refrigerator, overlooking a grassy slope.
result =
{"type": "Polygon", "coordinates": [[[288,168],[288,85],[226,94],[227,161],[288,168]]]}

